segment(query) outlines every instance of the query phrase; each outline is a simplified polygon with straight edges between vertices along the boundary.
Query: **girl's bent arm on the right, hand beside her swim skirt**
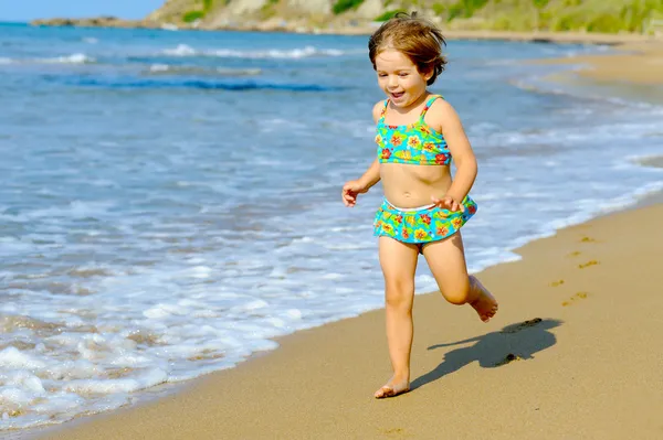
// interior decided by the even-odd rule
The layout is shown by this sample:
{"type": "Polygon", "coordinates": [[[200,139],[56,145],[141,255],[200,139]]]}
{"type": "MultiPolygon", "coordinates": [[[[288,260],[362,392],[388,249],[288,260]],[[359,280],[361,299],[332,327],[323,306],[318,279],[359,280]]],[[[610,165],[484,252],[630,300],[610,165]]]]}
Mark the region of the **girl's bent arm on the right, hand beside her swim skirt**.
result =
{"type": "Polygon", "coordinates": [[[438,99],[431,110],[434,111],[432,115],[433,124],[435,127],[441,128],[456,167],[456,173],[446,194],[441,198],[434,198],[433,202],[450,211],[465,211],[461,202],[465,198],[474,184],[474,179],[476,179],[476,157],[472,151],[472,146],[467,135],[465,135],[461,119],[451,104],[438,99]]]}

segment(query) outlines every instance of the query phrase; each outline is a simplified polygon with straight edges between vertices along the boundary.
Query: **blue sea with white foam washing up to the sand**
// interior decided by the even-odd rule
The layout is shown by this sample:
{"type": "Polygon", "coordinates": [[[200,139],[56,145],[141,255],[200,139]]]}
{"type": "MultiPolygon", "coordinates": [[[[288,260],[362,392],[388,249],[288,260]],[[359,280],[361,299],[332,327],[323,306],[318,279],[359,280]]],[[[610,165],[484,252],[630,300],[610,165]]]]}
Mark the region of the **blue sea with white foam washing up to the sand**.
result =
{"type": "MultiPolygon", "coordinates": [[[[0,25],[0,433],[382,307],[381,189],[340,198],[376,153],[367,41],[0,25]]],[[[663,189],[641,164],[663,154],[662,105],[530,63],[610,51],[449,42],[431,90],[478,160],[472,272],[663,189]]],[[[415,283],[435,290],[424,264],[415,283]]]]}

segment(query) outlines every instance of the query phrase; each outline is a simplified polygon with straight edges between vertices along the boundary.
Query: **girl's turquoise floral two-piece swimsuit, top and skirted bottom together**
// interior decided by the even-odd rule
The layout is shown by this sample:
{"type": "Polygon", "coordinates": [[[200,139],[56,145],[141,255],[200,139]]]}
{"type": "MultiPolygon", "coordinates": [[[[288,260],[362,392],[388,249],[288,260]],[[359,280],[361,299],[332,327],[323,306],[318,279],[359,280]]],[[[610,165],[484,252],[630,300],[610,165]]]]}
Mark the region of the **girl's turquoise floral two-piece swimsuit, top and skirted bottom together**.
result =
{"type": "MultiPolygon", "coordinates": [[[[419,120],[409,126],[385,124],[389,99],[377,126],[376,143],[380,163],[404,163],[415,165],[449,165],[451,151],[444,136],[424,121],[428,109],[440,95],[433,95],[423,107],[419,120]]],[[[399,208],[387,198],[376,214],[373,234],[394,238],[402,243],[420,245],[436,242],[455,234],[475,213],[476,203],[465,196],[461,202],[464,212],[452,212],[435,205],[417,208],[399,208]]]]}

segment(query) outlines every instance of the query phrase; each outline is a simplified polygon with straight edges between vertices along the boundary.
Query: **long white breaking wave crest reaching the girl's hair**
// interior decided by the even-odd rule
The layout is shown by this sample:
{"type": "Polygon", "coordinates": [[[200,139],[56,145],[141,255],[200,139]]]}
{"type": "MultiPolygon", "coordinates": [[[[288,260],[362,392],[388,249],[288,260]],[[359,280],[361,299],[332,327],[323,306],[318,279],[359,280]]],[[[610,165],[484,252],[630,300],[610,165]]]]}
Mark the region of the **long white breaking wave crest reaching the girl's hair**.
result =
{"type": "Polygon", "coordinates": [[[232,49],[219,49],[198,51],[187,44],[180,44],[175,49],[167,49],[160,55],[170,56],[215,56],[221,58],[307,58],[314,56],[343,56],[364,53],[364,51],[341,51],[338,49],[316,49],[306,46],[291,50],[264,50],[264,51],[236,51],[232,49]]]}

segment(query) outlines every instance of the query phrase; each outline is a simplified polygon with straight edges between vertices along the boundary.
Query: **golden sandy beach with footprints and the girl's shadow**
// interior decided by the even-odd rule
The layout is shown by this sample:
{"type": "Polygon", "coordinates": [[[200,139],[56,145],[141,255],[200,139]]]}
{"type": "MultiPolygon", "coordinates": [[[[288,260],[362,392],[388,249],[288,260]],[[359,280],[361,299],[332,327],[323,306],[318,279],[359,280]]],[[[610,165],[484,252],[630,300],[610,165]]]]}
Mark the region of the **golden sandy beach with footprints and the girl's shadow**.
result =
{"type": "MultiPolygon", "coordinates": [[[[628,53],[556,62],[587,65],[580,75],[592,79],[663,82],[661,43],[620,49],[628,53]]],[[[436,292],[418,296],[406,395],[372,398],[390,374],[377,310],[42,438],[661,439],[659,202],[562,229],[478,273],[501,302],[487,324],[436,292]]]]}

